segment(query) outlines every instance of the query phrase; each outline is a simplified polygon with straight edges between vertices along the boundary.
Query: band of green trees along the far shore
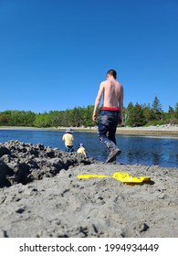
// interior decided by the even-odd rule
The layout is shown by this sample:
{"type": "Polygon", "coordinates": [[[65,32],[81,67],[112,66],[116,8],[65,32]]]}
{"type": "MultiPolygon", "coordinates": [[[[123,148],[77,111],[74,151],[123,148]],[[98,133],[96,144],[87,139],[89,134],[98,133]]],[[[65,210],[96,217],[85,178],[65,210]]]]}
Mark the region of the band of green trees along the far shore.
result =
{"type": "MultiPolygon", "coordinates": [[[[30,126],[30,127],[91,127],[93,105],[75,107],[66,111],[50,111],[43,113],[6,110],[0,112],[0,126],[30,126]]],[[[99,109],[100,111],[100,109],[99,109]]],[[[155,96],[152,104],[135,105],[130,102],[123,108],[123,122],[120,126],[149,126],[161,124],[178,124],[178,102],[169,106],[167,112],[162,111],[162,104],[155,96]]]]}

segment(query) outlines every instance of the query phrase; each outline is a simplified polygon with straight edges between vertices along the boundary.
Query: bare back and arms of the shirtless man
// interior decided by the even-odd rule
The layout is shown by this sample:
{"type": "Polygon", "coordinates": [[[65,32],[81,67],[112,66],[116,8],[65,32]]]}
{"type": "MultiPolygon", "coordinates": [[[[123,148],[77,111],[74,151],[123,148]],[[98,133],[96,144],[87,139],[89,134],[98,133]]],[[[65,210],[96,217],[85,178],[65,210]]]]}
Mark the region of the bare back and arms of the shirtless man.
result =
{"type": "Polygon", "coordinates": [[[99,92],[95,101],[93,121],[96,121],[97,119],[97,110],[102,96],[104,97],[103,107],[119,108],[120,118],[122,119],[123,87],[121,86],[120,82],[108,75],[107,80],[100,83],[99,92]]]}

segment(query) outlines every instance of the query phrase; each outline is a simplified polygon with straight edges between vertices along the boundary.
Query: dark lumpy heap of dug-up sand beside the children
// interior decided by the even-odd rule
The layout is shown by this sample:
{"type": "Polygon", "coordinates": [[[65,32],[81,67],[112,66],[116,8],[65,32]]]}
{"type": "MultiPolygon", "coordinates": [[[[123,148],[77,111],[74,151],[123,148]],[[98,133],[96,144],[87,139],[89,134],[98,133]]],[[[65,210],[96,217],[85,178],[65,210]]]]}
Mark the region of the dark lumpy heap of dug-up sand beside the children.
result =
{"type": "Polygon", "coordinates": [[[43,177],[56,176],[60,170],[70,166],[90,165],[93,159],[68,154],[43,144],[25,144],[9,141],[0,144],[0,187],[16,183],[27,184],[43,177]]]}

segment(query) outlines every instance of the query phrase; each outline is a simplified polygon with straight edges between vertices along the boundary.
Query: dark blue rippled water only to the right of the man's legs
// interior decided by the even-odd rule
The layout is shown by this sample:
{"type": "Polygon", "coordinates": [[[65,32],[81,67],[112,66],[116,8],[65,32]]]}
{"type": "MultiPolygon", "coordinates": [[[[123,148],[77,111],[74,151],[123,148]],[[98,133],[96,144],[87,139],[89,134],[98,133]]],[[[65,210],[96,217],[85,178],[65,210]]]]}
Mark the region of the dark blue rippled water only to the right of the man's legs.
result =
{"type": "Polygon", "coordinates": [[[118,136],[117,140],[124,148],[120,155],[124,163],[178,167],[177,139],[118,136]]]}

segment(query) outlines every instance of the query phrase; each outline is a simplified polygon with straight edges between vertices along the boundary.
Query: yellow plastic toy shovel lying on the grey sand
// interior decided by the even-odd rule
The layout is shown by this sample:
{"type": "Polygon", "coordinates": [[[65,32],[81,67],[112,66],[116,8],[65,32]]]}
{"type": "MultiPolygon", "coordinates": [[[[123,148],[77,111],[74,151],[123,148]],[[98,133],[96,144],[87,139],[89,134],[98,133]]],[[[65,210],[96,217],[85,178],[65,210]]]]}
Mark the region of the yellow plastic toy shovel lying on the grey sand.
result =
{"type": "Polygon", "coordinates": [[[142,183],[142,182],[147,182],[151,180],[150,176],[130,176],[128,173],[120,173],[120,172],[115,172],[112,176],[101,176],[101,175],[92,175],[92,174],[84,174],[84,175],[79,175],[79,178],[94,178],[94,177],[113,177],[117,180],[120,180],[123,183],[142,183]]]}

